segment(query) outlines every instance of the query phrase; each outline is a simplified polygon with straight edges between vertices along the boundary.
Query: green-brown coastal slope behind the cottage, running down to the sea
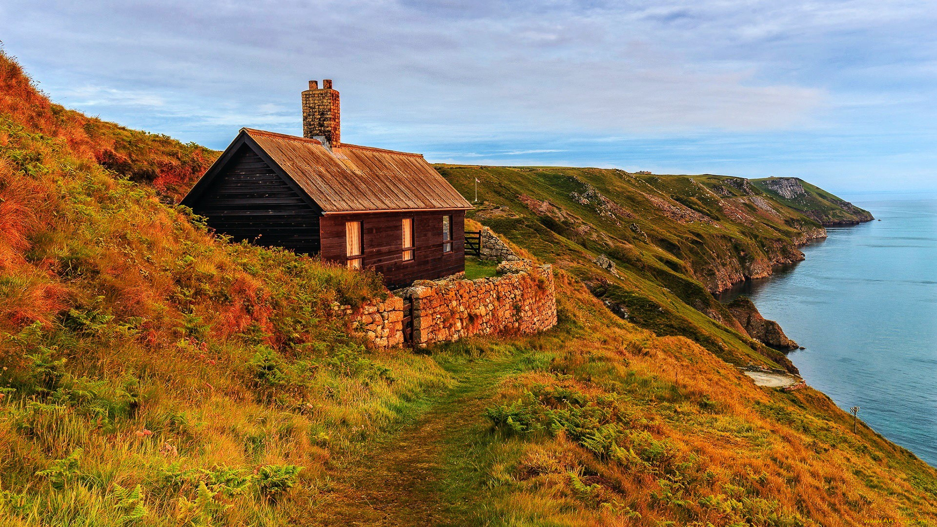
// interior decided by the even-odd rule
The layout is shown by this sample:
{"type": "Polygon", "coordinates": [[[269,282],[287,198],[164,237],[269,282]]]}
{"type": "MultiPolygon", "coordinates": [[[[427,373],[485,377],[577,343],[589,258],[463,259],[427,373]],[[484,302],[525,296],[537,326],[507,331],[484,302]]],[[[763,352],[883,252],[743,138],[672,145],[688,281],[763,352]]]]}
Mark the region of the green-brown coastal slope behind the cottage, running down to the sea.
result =
{"type": "Polygon", "coordinates": [[[825,236],[748,180],[587,168],[439,166],[457,188],[484,182],[470,216],[585,282],[610,307],[658,335],[689,337],[727,361],[794,371],[749,339],[710,292],[764,277],[825,236]],[[614,199],[613,199],[614,198],[614,199]],[[592,260],[605,254],[613,276],[592,260]]]}

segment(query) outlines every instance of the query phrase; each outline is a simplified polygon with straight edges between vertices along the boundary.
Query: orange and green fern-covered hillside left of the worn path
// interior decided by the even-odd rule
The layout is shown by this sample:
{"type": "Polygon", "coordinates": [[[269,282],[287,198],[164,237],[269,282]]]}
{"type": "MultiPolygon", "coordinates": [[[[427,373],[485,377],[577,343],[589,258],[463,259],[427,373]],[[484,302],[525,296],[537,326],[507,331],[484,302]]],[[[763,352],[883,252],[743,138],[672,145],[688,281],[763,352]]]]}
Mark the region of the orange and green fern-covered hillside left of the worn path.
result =
{"type": "Polygon", "coordinates": [[[98,160],[201,148],[63,111],[0,64],[0,524],[286,524],[334,453],[451,382],[333,316],[379,277],[217,240],[98,160]]]}

